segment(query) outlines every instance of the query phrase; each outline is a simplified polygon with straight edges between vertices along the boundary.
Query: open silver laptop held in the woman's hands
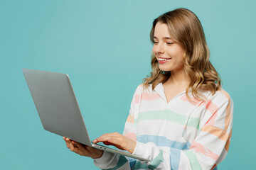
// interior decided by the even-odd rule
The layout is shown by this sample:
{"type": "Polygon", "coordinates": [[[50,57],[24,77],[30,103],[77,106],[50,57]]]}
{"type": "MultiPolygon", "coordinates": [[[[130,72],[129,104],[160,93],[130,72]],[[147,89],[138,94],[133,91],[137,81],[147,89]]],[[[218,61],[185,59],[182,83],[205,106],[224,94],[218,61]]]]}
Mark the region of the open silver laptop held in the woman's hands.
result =
{"type": "Polygon", "coordinates": [[[84,145],[149,162],[129,152],[93,144],[82,119],[68,74],[22,69],[43,128],[84,145]]]}

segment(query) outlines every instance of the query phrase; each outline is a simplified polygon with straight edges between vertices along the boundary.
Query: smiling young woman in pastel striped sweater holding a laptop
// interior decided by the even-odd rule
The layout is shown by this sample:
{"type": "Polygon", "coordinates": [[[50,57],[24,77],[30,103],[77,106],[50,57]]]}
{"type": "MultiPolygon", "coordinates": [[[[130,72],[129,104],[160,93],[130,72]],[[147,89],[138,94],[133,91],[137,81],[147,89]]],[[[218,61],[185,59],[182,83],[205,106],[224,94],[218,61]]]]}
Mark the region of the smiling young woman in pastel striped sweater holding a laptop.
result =
{"type": "Polygon", "coordinates": [[[220,86],[197,16],[186,8],[154,20],[150,77],[137,87],[123,135],[98,137],[150,159],[102,152],[64,138],[67,147],[92,157],[100,169],[217,169],[230,145],[233,101],[220,86]]]}

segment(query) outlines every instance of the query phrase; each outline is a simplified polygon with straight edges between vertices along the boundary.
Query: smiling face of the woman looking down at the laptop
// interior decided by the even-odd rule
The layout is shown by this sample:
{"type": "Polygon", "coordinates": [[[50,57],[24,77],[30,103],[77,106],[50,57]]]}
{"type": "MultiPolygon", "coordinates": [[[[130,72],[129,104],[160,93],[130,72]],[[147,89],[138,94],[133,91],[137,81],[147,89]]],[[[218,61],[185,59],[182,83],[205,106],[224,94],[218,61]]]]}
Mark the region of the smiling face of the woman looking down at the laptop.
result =
{"type": "Polygon", "coordinates": [[[153,52],[159,62],[159,69],[177,72],[183,69],[185,50],[171,38],[165,23],[156,23],[153,52]]]}

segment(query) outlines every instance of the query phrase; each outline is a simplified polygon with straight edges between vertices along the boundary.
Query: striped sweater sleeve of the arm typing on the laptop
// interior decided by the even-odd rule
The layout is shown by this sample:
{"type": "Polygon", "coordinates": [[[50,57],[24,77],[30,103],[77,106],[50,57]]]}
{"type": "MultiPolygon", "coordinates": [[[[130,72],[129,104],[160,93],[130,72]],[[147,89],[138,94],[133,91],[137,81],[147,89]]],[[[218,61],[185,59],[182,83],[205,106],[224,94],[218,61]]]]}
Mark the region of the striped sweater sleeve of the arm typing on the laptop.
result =
{"type": "Polygon", "coordinates": [[[137,142],[134,154],[151,160],[146,164],[147,169],[214,169],[228,153],[233,101],[225,91],[217,91],[208,103],[216,106],[214,113],[210,118],[201,118],[204,123],[201,132],[189,149],[161,149],[154,143],[137,142]]]}

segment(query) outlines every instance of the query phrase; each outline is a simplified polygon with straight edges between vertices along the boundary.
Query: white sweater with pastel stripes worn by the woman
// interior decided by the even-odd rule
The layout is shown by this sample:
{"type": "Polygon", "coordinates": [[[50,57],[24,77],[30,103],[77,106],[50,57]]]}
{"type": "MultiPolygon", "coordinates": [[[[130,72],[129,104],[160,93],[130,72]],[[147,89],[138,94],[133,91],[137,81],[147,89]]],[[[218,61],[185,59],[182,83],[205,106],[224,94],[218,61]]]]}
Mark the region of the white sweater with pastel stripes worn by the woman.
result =
{"type": "Polygon", "coordinates": [[[123,135],[137,140],[133,154],[150,162],[104,152],[94,163],[100,169],[217,169],[228,153],[233,124],[233,101],[223,89],[203,92],[198,101],[185,91],[166,101],[158,84],[137,87],[123,135]]]}

